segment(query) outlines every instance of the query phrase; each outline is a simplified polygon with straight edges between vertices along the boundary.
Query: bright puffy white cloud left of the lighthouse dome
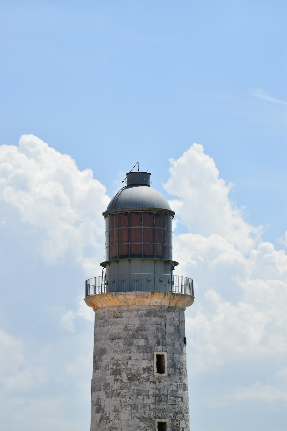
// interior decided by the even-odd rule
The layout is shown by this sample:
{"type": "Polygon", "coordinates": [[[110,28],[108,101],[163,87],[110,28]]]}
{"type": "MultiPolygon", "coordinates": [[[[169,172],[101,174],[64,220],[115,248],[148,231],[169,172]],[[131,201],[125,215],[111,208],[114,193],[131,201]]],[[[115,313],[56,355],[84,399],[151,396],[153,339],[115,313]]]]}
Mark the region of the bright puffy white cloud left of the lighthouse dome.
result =
{"type": "Polygon", "coordinates": [[[95,269],[104,250],[105,192],[90,169],[80,171],[71,156],[34,135],[22,135],[19,147],[0,147],[0,200],[40,233],[46,262],[69,252],[86,273],[95,269]]]}

